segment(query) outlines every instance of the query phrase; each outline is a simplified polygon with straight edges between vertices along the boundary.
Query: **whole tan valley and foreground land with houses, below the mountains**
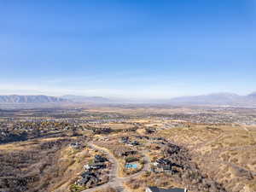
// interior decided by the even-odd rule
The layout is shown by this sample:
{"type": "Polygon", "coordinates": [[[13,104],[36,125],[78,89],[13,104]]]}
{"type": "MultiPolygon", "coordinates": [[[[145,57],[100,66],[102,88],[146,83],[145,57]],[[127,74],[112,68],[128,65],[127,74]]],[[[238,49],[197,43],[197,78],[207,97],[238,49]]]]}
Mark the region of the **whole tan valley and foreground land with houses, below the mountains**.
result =
{"type": "Polygon", "coordinates": [[[256,109],[0,111],[0,191],[256,190],[256,109]]]}

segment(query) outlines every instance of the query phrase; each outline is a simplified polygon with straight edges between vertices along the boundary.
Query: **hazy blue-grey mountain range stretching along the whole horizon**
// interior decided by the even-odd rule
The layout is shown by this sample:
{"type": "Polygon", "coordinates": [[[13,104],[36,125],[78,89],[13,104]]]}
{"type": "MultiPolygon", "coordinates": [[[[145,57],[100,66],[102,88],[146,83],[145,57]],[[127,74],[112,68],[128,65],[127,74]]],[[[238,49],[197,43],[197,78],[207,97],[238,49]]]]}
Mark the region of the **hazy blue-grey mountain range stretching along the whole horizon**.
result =
{"type": "MultiPolygon", "coordinates": [[[[247,96],[233,93],[214,93],[203,96],[180,96],[164,101],[151,101],[152,103],[166,103],[172,105],[229,105],[229,106],[256,106],[256,92],[247,96]]],[[[33,103],[129,103],[121,99],[109,99],[102,96],[0,96],[0,103],[33,104],[33,103]]],[[[132,102],[136,103],[136,102],[132,102]]],[[[142,103],[137,101],[137,103],[142,103]]],[[[149,103],[149,102],[148,102],[149,103]]]]}

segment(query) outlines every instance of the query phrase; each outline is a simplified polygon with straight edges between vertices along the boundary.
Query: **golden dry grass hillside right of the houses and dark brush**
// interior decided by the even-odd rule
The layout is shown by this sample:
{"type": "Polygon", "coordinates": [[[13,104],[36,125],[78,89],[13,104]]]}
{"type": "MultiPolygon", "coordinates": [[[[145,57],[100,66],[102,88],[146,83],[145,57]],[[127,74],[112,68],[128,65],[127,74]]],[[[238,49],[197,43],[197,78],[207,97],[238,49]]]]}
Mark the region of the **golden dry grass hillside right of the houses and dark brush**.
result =
{"type": "Polygon", "coordinates": [[[189,148],[201,171],[229,192],[256,191],[256,128],[191,125],[157,134],[189,148]]]}

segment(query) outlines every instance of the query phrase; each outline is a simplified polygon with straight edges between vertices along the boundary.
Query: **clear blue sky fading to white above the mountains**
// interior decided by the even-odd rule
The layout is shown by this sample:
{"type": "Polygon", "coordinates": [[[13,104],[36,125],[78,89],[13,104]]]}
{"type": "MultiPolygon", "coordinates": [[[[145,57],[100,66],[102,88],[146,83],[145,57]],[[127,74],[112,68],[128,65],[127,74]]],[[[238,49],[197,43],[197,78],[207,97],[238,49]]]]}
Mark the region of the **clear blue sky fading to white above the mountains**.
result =
{"type": "Polygon", "coordinates": [[[256,90],[255,0],[0,0],[0,94],[256,90]]]}

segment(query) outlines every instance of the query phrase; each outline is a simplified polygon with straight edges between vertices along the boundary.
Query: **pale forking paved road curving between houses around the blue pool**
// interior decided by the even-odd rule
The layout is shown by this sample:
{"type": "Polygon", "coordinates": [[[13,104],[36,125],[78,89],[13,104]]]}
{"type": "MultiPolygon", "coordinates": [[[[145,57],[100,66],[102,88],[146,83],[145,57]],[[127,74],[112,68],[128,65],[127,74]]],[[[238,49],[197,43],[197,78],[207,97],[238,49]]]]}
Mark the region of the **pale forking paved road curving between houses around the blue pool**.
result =
{"type": "Polygon", "coordinates": [[[108,183],[96,186],[95,188],[92,189],[85,189],[82,192],[94,192],[95,190],[98,189],[104,189],[107,187],[112,187],[114,189],[117,189],[118,191],[122,191],[122,192],[129,192],[127,189],[125,189],[125,187],[123,186],[124,182],[129,181],[131,178],[137,178],[139,176],[141,176],[143,174],[143,172],[146,172],[149,170],[149,162],[150,159],[147,155],[147,151],[143,151],[144,154],[144,160],[145,160],[145,164],[143,166],[143,170],[141,170],[140,172],[137,172],[131,176],[128,177],[119,177],[119,162],[118,160],[113,156],[113,154],[111,154],[107,148],[101,148],[96,146],[96,144],[93,143],[89,143],[90,148],[96,149],[96,150],[100,150],[102,152],[104,152],[105,154],[108,155],[108,160],[110,162],[112,162],[112,169],[111,172],[109,172],[109,181],[108,183]]]}

